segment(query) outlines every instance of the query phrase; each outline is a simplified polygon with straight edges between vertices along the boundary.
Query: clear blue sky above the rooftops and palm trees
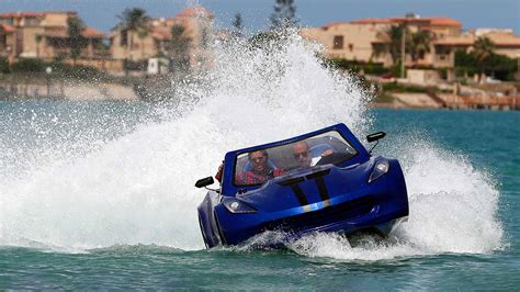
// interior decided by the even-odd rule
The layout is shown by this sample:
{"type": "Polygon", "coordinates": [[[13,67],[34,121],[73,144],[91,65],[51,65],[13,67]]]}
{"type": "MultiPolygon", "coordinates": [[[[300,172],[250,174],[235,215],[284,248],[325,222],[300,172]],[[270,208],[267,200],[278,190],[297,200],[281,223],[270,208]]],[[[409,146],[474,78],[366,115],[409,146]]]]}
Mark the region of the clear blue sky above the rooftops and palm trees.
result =
{"type": "MultiPolygon", "coordinates": [[[[520,34],[520,0],[294,0],[303,26],[321,26],[335,21],[363,18],[448,16],[476,27],[512,29],[520,34]]],[[[182,9],[199,3],[215,15],[219,27],[229,27],[236,13],[242,15],[249,31],[269,26],[274,0],[0,0],[0,12],[77,11],[87,25],[109,32],[125,8],[146,9],[154,18],[174,16],[182,9]]]]}

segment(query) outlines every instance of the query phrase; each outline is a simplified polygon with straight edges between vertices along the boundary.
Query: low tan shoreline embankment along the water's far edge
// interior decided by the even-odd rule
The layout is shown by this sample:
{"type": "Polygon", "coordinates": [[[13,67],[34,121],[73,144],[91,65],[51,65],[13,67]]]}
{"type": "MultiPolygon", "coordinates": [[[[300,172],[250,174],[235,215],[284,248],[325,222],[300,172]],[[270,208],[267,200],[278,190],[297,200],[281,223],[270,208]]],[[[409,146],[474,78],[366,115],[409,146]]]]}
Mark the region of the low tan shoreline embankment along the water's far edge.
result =
{"type": "MultiPolygon", "coordinates": [[[[396,85],[398,85],[396,82],[396,85]]],[[[120,78],[117,80],[67,79],[36,76],[1,76],[0,100],[65,100],[65,101],[155,101],[154,94],[168,91],[172,83],[165,77],[120,78]]],[[[394,86],[395,87],[395,86],[394,86]]],[[[504,86],[502,86],[504,87],[504,86]]],[[[384,87],[381,87],[384,88],[384,87]]],[[[511,87],[506,87],[511,88],[511,87]]],[[[399,87],[375,94],[372,109],[450,109],[450,110],[520,110],[520,96],[493,97],[479,91],[457,96],[444,90],[399,87]]],[[[498,91],[497,91],[498,92],[498,91]]],[[[169,97],[174,99],[174,97],[169,97]]]]}

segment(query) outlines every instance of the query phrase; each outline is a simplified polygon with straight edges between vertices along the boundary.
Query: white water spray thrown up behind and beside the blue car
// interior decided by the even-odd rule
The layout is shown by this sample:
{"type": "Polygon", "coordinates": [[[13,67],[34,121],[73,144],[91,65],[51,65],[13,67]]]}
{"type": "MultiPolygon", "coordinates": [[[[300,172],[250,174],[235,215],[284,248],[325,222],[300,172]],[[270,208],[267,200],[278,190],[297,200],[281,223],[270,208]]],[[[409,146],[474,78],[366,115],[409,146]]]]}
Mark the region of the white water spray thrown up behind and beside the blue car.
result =
{"type": "MultiPolygon", "coordinates": [[[[316,48],[296,35],[267,50],[223,45],[210,72],[179,89],[180,106],[165,111],[174,117],[80,157],[35,166],[26,176],[2,175],[0,245],[203,248],[196,206],[204,191],[193,183],[213,175],[227,150],[338,122],[366,134],[369,94],[351,77],[325,68],[316,48]]],[[[410,220],[396,231],[396,244],[351,248],[344,238],[316,235],[291,248],[366,260],[499,248],[498,192],[489,179],[428,144],[400,148],[410,220]]]]}

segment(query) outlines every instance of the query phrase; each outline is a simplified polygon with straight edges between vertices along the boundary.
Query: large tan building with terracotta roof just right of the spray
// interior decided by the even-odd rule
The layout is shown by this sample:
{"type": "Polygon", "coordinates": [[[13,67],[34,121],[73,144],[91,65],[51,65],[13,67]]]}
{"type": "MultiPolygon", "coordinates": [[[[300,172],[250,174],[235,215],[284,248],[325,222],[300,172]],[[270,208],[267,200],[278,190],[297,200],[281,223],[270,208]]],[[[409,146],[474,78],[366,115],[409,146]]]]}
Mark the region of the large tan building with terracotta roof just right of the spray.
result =
{"type": "Polygon", "coordinates": [[[388,31],[392,26],[405,25],[409,33],[427,32],[430,35],[430,49],[412,60],[406,56],[406,65],[431,67],[453,67],[450,53],[444,47],[437,50],[438,40],[461,35],[462,24],[449,18],[406,18],[361,19],[350,22],[334,22],[323,27],[303,29],[304,37],[317,41],[325,46],[328,58],[343,58],[364,63],[380,63],[384,66],[395,65],[391,57],[388,31]]]}

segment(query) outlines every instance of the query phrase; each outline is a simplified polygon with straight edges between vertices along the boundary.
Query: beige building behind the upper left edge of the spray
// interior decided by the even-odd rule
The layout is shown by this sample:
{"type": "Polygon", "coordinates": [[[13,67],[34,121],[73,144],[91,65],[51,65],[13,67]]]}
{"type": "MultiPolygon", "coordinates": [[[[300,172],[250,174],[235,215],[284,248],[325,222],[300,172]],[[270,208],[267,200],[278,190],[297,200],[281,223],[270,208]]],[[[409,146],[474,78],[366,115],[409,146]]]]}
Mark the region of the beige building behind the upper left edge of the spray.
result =
{"type": "Polygon", "coordinates": [[[110,52],[117,60],[146,61],[155,57],[173,57],[172,29],[182,27],[181,40],[186,42],[191,65],[208,57],[213,15],[202,7],[189,8],[174,18],[150,18],[145,27],[128,31],[116,26],[110,33],[110,52]]]}

